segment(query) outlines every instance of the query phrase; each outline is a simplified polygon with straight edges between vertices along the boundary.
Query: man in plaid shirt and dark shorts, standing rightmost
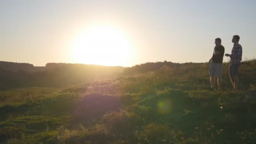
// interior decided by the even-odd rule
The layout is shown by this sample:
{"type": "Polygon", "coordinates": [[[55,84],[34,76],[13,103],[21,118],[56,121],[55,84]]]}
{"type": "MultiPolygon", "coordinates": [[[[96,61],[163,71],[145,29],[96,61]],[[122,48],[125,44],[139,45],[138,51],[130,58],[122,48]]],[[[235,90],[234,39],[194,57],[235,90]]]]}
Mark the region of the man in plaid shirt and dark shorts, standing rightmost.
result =
{"type": "Polygon", "coordinates": [[[232,38],[232,43],[234,43],[234,46],[232,48],[232,53],[225,54],[225,56],[230,57],[229,77],[235,91],[238,88],[238,69],[242,61],[242,53],[243,53],[242,46],[238,43],[239,40],[240,40],[240,37],[238,35],[234,35],[232,38]]]}

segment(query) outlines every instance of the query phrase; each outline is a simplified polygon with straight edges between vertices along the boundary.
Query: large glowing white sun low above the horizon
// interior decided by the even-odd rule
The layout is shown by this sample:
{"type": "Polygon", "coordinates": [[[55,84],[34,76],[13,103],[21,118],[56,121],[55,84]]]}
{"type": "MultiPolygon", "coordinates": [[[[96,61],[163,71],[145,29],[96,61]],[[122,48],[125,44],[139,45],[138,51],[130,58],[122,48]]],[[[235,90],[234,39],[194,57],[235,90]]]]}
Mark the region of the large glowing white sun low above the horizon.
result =
{"type": "Polygon", "coordinates": [[[75,63],[128,66],[133,49],[122,29],[101,25],[80,32],[73,41],[71,53],[75,63]]]}

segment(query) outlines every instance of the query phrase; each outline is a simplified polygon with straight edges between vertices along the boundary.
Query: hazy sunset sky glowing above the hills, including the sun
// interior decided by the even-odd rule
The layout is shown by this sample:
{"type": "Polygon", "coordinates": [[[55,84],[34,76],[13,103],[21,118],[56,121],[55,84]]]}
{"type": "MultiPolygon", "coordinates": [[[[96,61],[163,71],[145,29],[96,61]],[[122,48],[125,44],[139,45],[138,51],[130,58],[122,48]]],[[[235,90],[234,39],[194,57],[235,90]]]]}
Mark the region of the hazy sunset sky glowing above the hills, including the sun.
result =
{"type": "Polygon", "coordinates": [[[0,0],[0,61],[206,62],[233,35],[252,59],[255,14],[255,0],[0,0]]]}

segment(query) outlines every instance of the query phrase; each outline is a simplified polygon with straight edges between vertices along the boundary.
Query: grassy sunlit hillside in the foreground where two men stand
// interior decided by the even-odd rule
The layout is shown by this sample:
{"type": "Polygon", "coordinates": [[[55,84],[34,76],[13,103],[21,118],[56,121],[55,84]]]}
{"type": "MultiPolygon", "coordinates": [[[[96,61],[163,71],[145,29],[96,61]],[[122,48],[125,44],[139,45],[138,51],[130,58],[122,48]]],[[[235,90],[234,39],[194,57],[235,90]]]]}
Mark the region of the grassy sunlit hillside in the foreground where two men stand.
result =
{"type": "Polygon", "coordinates": [[[256,60],[232,91],[208,91],[208,63],[147,63],[66,88],[0,91],[0,141],[9,144],[256,143],[256,60]]]}

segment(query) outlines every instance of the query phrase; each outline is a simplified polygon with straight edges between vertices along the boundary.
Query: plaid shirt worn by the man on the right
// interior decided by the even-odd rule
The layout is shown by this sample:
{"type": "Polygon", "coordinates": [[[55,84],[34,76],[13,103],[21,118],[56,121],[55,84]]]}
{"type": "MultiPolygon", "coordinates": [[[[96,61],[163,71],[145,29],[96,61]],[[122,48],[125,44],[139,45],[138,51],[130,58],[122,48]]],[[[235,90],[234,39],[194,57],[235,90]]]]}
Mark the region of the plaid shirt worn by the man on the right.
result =
{"type": "Polygon", "coordinates": [[[235,43],[230,56],[230,64],[240,64],[240,61],[242,61],[242,53],[242,46],[239,43],[235,43]]]}

